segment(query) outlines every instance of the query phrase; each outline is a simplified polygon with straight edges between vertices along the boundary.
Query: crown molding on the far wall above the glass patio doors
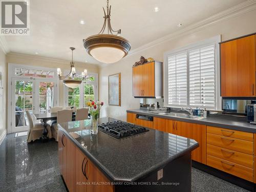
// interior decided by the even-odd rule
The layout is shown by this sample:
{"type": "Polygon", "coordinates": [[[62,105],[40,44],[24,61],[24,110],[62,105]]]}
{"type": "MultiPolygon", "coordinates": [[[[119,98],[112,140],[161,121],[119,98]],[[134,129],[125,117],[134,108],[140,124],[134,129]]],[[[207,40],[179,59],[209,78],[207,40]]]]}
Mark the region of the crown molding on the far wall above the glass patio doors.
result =
{"type": "MultiPolygon", "coordinates": [[[[24,53],[15,53],[15,52],[10,52],[7,54],[7,57],[15,57],[15,58],[20,58],[20,59],[35,59],[35,60],[40,60],[40,61],[45,61],[45,62],[56,62],[60,63],[61,65],[70,65],[69,60],[65,59],[57,59],[57,58],[52,58],[52,57],[44,57],[44,56],[39,56],[39,55],[30,55],[30,54],[24,54],[24,53]]],[[[74,61],[75,63],[79,63],[82,65],[86,65],[88,67],[94,67],[97,68],[98,65],[96,64],[91,64],[87,62],[79,62],[79,61],[74,61]]]]}

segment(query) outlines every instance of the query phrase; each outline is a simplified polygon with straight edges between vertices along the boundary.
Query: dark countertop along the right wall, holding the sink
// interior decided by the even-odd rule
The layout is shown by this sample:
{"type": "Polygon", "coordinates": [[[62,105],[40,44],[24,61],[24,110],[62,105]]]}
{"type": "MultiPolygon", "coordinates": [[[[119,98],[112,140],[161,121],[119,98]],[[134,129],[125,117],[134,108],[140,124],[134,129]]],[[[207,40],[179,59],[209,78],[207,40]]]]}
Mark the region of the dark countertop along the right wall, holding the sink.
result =
{"type": "Polygon", "coordinates": [[[178,117],[178,116],[169,116],[169,115],[161,115],[161,114],[153,114],[149,113],[145,110],[135,109],[135,110],[126,110],[127,113],[136,113],[140,115],[147,115],[152,117],[159,117],[159,118],[165,118],[165,119],[173,119],[177,121],[184,121],[184,122],[190,122],[190,123],[198,123],[198,124],[205,124],[209,126],[217,126],[222,127],[226,129],[232,129],[232,130],[238,130],[238,131],[244,131],[244,132],[250,132],[250,133],[256,133],[256,125],[248,123],[247,121],[241,121],[236,120],[234,118],[224,118],[217,117],[217,116],[211,116],[211,117],[202,117],[199,119],[189,119],[185,117],[178,117]]]}

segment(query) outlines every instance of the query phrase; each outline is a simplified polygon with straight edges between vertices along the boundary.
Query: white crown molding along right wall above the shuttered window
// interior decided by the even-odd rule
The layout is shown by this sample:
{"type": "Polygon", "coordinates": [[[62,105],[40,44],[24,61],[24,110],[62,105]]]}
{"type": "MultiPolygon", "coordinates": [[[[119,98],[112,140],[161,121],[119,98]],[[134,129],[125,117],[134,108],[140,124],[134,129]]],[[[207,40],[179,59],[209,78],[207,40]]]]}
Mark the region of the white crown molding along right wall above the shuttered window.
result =
{"type": "MultiPolygon", "coordinates": [[[[213,24],[216,24],[218,22],[221,22],[222,20],[225,20],[225,19],[230,19],[230,18],[233,18],[233,17],[236,17],[236,16],[239,16],[239,15],[242,15],[242,14],[245,14],[247,12],[250,12],[250,11],[253,11],[256,9],[256,0],[248,0],[244,3],[241,3],[237,6],[234,6],[234,7],[231,7],[225,11],[222,11],[220,13],[217,13],[213,16],[210,16],[206,19],[203,19],[201,20],[200,22],[197,22],[195,24],[191,24],[187,27],[184,27],[183,29],[181,30],[178,30],[174,33],[170,33],[166,36],[163,36],[159,39],[156,39],[148,44],[145,44],[141,47],[138,47],[134,50],[131,50],[129,52],[129,54],[126,56],[126,57],[129,57],[135,53],[138,53],[140,51],[143,51],[143,50],[146,50],[148,48],[151,48],[153,46],[156,46],[158,44],[161,44],[162,42],[165,42],[165,41],[169,41],[169,40],[172,40],[172,39],[176,39],[180,36],[184,36],[186,34],[191,34],[191,33],[194,33],[196,31],[199,31],[205,27],[208,27],[210,25],[213,25],[213,24]]],[[[99,65],[99,67],[105,67],[105,66],[109,66],[111,64],[103,64],[103,65],[99,65]]]]}

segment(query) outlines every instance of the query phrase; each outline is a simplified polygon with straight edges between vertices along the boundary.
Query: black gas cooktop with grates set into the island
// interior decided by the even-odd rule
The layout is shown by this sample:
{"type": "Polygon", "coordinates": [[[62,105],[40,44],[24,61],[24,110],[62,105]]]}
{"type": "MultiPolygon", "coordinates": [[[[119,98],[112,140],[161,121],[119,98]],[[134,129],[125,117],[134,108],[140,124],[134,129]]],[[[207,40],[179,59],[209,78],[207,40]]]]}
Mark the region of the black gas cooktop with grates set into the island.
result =
{"type": "Polygon", "coordinates": [[[119,120],[102,123],[98,126],[98,129],[118,139],[150,131],[145,127],[119,120]]]}

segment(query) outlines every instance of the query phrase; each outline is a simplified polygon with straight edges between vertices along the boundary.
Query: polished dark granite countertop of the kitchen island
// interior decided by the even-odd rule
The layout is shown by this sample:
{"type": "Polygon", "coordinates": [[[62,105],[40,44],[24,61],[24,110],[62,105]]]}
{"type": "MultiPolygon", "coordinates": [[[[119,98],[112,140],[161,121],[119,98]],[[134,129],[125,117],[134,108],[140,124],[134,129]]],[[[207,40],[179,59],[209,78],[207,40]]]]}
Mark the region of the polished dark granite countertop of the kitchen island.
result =
{"type": "MultiPolygon", "coordinates": [[[[99,123],[114,120],[100,118],[99,123]]],[[[199,146],[193,139],[153,129],[121,139],[100,130],[91,135],[90,120],[58,127],[111,181],[136,181],[199,146]]]]}

